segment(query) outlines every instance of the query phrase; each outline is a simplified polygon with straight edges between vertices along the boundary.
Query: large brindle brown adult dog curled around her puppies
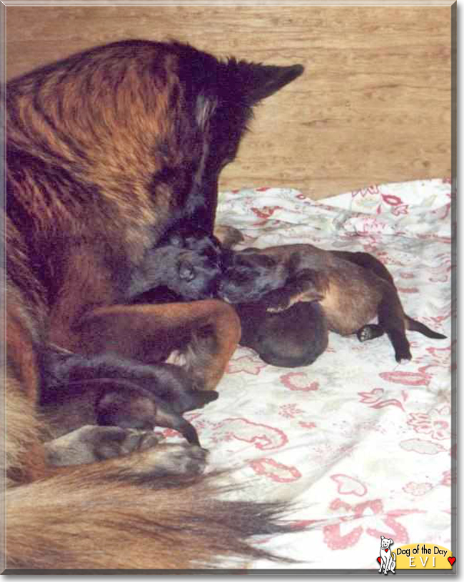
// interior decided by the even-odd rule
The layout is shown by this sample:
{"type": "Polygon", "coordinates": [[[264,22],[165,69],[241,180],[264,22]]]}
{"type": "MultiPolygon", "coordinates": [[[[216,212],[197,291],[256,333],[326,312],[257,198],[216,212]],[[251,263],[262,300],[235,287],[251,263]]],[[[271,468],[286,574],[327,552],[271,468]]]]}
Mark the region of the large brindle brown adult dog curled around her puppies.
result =
{"type": "MultiPolygon", "coordinates": [[[[143,450],[146,439],[117,428],[114,452],[140,452],[51,466],[36,403],[49,343],[142,363],[187,343],[203,386],[216,387],[240,338],[231,306],[121,301],[173,223],[212,231],[218,175],[253,106],[302,71],[125,41],[7,85],[8,568],[212,567],[266,555],[247,538],[286,529],[273,522],[279,506],[219,500],[211,479],[195,476],[198,447],[143,450]]],[[[93,445],[113,428],[94,431],[93,445]]]]}

